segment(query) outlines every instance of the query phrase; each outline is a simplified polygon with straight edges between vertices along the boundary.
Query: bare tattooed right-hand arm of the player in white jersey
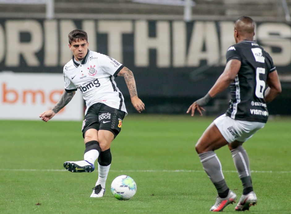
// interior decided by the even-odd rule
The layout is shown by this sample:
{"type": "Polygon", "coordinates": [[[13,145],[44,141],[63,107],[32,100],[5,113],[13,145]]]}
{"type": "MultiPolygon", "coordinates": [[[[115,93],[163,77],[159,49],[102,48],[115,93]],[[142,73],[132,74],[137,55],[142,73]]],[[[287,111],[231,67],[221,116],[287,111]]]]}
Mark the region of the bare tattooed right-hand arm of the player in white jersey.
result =
{"type": "Polygon", "coordinates": [[[117,75],[124,77],[131,97],[131,103],[135,107],[136,111],[140,113],[144,110],[144,103],[137,96],[135,78],[132,71],[126,67],[123,67],[117,75]]]}

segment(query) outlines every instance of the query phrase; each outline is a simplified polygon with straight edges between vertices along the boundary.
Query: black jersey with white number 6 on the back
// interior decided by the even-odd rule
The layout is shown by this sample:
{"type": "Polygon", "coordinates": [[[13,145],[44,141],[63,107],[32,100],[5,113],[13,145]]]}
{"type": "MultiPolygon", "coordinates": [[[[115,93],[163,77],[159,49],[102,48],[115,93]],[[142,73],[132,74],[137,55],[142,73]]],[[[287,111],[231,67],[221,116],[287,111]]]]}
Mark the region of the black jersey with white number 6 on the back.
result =
{"type": "Polygon", "coordinates": [[[230,84],[231,99],[226,115],[235,120],[266,123],[266,81],[268,74],[276,70],[272,57],[257,42],[244,40],[228,48],[226,60],[232,59],[241,61],[242,65],[230,84]]]}

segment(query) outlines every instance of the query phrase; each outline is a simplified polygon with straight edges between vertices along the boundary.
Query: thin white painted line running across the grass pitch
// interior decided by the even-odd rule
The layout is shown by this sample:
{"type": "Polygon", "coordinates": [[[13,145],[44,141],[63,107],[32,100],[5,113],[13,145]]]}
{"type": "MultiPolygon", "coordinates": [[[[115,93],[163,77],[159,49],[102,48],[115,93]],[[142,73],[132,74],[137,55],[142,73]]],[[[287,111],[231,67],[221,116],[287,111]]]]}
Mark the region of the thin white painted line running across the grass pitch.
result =
{"type": "MultiPolygon", "coordinates": [[[[65,172],[67,170],[36,170],[36,169],[0,169],[0,171],[42,171],[42,172],[65,172]]],[[[204,170],[110,170],[111,172],[204,172],[204,170]]],[[[223,170],[223,172],[237,173],[235,170],[223,170]]],[[[252,173],[291,173],[291,171],[258,171],[251,170],[252,173]]]]}

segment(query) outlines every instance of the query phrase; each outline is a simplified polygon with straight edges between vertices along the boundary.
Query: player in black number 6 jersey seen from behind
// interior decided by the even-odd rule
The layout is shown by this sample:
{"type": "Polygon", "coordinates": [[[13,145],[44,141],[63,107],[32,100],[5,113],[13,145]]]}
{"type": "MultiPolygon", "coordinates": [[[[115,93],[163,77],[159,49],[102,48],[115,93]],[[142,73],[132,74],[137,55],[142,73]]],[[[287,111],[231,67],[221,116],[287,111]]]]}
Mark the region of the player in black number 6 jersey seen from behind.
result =
{"type": "Polygon", "coordinates": [[[226,52],[224,72],[208,94],[195,101],[187,111],[193,116],[197,109],[202,115],[203,106],[230,86],[229,109],[209,125],[195,146],[203,168],[218,192],[216,203],[210,209],[213,212],[222,211],[237,199],[236,194],[226,185],[220,161],[214,152],[225,145],[228,145],[232,153],[243,186],[243,193],[235,210],[249,210],[251,205],[257,204],[249,158],[242,144],[266,124],[266,103],[281,92],[281,85],[272,58],[254,41],[254,35],[253,19],[243,16],[235,22],[236,44],[226,52]]]}

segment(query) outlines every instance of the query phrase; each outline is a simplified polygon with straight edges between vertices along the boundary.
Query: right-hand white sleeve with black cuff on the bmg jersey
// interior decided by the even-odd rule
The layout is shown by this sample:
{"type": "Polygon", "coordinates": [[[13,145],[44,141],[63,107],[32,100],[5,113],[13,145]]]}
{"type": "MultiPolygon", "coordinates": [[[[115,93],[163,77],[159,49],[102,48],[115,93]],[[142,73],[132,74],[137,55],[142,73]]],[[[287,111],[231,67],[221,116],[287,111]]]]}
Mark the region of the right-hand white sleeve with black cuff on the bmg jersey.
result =
{"type": "Polygon", "coordinates": [[[110,75],[116,77],[119,71],[124,67],[120,62],[117,60],[106,56],[104,54],[101,54],[99,63],[101,65],[101,68],[110,75]]]}

